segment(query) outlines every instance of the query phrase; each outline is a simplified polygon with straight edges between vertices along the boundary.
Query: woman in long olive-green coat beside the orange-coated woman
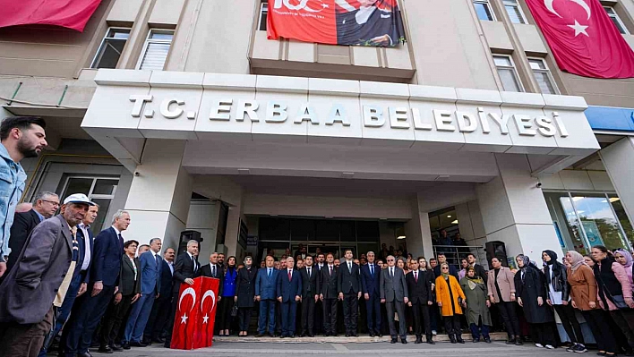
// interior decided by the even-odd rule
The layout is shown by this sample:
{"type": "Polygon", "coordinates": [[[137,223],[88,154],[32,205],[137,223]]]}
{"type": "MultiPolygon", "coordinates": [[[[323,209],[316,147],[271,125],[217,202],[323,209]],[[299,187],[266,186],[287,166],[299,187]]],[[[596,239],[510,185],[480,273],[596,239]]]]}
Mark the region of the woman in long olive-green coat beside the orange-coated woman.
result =
{"type": "Polygon", "coordinates": [[[489,297],[486,295],[486,285],[482,277],[475,275],[475,268],[468,267],[467,275],[460,280],[460,287],[467,297],[467,322],[471,328],[471,336],[474,343],[480,342],[480,333],[484,342],[491,344],[491,336],[489,336],[489,327],[493,325],[491,322],[491,313],[489,307],[489,297]]]}

